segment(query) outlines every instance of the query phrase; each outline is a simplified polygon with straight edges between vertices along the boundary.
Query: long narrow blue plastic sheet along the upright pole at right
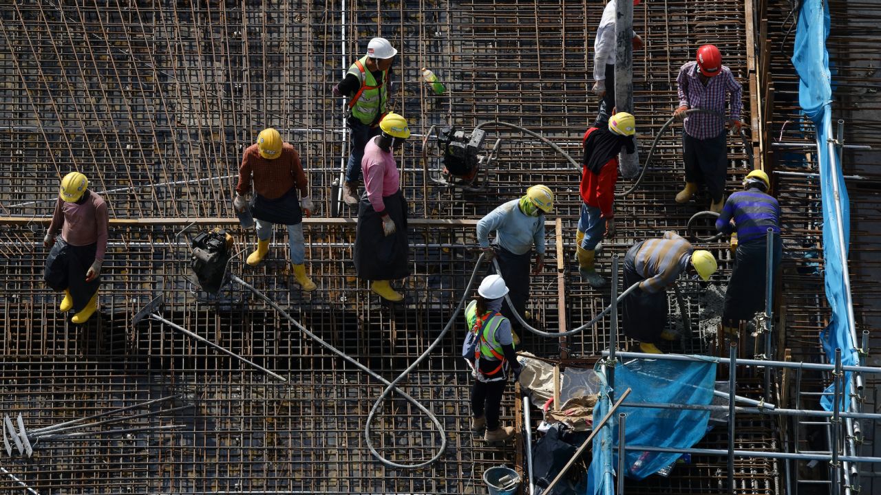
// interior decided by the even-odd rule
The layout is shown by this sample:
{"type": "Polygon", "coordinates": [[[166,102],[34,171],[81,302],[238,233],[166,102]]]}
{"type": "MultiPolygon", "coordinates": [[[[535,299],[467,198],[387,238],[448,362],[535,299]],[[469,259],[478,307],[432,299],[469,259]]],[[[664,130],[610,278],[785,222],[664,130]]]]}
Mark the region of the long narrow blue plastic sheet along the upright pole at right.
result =
{"type": "MultiPolygon", "coordinates": [[[[834,362],[835,349],[841,350],[844,365],[856,365],[859,356],[854,334],[849,325],[848,273],[845,262],[850,239],[850,209],[848,190],[838,156],[830,151],[828,139],[832,137],[832,78],[829,71],[829,53],[825,48],[829,35],[829,10],[822,0],[803,0],[798,15],[796,47],[792,63],[799,77],[798,100],[804,114],[812,122],[817,133],[820,191],[823,200],[823,256],[825,258],[825,293],[832,308],[832,320],[820,334],[820,342],[829,362],[834,362]],[[833,193],[833,181],[838,182],[838,198],[833,193]],[[839,225],[840,211],[841,222],[839,225]],[[843,233],[843,235],[842,235],[843,233]],[[843,253],[843,256],[842,256],[843,253]]],[[[833,149],[834,150],[834,149],[833,149]]],[[[849,373],[845,377],[843,397],[848,396],[849,373]]],[[[826,388],[832,392],[833,388],[826,388]]],[[[825,395],[821,403],[825,410],[832,410],[832,397],[825,395]]],[[[848,401],[845,401],[847,403],[848,401]]],[[[845,406],[847,410],[847,406],[845,406]]]]}

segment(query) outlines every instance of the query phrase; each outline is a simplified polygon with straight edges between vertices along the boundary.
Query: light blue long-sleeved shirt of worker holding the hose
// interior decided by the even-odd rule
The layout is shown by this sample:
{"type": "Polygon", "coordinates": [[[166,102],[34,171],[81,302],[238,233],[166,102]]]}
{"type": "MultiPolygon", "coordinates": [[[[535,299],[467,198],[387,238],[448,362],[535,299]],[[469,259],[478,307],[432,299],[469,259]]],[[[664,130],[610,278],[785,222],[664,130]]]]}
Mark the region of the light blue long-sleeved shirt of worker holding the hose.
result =
{"type": "Polygon", "coordinates": [[[515,255],[529,253],[535,244],[539,255],[544,255],[544,215],[529,217],[520,210],[520,198],[512,199],[478,221],[480,247],[490,247],[489,234],[495,231],[494,243],[515,255]]]}

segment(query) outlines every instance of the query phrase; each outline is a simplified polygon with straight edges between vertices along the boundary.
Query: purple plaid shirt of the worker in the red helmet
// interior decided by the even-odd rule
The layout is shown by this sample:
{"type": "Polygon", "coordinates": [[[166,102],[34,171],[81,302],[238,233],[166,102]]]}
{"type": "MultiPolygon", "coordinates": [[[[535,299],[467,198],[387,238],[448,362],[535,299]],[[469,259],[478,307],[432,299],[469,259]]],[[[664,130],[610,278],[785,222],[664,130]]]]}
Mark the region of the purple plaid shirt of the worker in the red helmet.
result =
{"type": "MultiPolygon", "coordinates": [[[[707,108],[725,115],[725,93],[731,95],[731,119],[740,120],[743,102],[740,100],[743,90],[740,83],[731,74],[731,70],[722,65],[718,76],[709,78],[707,85],[700,82],[697,62],[689,62],[679,69],[676,78],[679,92],[679,106],[689,108],[707,108]]],[[[725,129],[725,122],[712,114],[690,115],[685,118],[685,132],[697,139],[717,137],[725,129]]]]}

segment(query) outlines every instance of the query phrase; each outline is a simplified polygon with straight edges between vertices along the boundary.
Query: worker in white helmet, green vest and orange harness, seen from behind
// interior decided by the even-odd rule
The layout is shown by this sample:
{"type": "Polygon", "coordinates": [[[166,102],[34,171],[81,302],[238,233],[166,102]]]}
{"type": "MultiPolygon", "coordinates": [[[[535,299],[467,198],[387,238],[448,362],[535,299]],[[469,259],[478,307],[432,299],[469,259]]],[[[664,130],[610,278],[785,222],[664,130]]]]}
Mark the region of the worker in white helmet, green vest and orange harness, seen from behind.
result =
{"type": "Polygon", "coordinates": [[[465,308],[465,320],[474,335],[474,352],[468,361],[474,376],[471,388],[471,431],[485,431],[484,440],[502,445],[514,436],[513,426],[501,426],[499,412],[508,372],[520,377],[522,366],[514,351],[511,322],[499,313],[508,288],[498,275],[485,277],[478,287],[478,299],[465,308]]]}

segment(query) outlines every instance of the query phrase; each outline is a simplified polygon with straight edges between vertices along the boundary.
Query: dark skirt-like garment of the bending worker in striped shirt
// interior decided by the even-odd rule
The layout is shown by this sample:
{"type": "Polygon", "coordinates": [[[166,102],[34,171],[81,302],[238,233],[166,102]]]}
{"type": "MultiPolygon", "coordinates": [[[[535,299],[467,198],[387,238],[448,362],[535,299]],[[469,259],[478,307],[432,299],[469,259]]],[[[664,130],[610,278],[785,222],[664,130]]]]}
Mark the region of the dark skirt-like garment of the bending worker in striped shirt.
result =
{"type": "MultiPolygon", "coordinates": [[[[625,265],[624,288],[627,289],[645,278],[636,270],[625,265]]],[[[624,298],[624,334],[640,342],[657,344],[664,327],[667,326],[667,291],[655,294],[635,289],[624,298]]]]}

